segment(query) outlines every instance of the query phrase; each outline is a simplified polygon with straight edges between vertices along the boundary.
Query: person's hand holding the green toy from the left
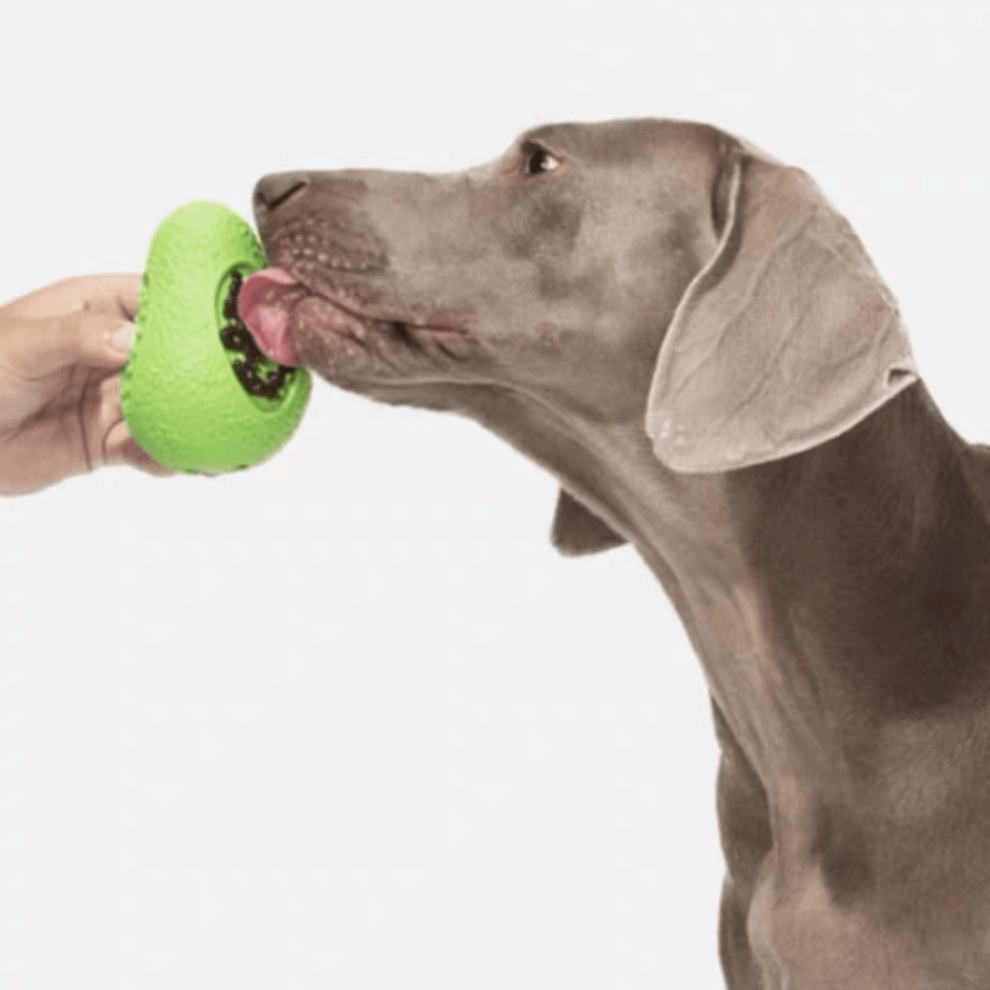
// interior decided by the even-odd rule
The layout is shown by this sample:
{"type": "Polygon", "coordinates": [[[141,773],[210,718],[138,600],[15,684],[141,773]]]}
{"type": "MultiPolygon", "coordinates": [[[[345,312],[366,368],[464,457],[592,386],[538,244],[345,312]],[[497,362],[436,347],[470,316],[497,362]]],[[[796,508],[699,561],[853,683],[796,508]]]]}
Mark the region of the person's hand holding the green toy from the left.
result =
{"type": "Polygon", "coordinates": [[[131,437],[118,372],[141,275],[81,275],[0,306],[0,494],[37,491],[104,464],[174,471],[131,437]]]}

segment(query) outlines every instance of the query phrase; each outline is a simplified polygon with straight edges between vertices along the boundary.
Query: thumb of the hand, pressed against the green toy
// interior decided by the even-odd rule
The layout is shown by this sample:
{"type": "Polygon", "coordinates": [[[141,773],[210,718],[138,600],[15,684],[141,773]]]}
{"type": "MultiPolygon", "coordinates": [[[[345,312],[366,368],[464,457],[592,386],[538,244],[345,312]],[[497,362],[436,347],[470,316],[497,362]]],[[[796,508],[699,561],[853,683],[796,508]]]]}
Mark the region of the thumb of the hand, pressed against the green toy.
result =
{"type": "Polygon", "coordinates": [[[26,378],[41,378],[76,363],[118,367],[127,360],[134,324],[120,313],[75,310],[43,319],[16,321],[7,339],[9,366],[26,378]]]}

